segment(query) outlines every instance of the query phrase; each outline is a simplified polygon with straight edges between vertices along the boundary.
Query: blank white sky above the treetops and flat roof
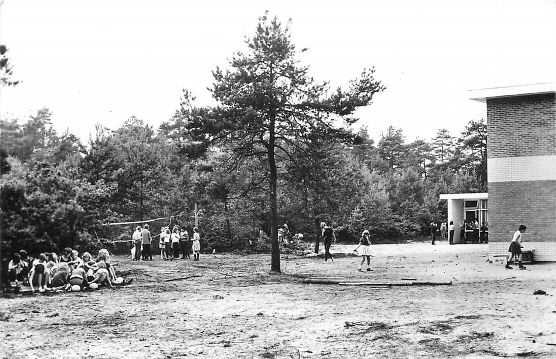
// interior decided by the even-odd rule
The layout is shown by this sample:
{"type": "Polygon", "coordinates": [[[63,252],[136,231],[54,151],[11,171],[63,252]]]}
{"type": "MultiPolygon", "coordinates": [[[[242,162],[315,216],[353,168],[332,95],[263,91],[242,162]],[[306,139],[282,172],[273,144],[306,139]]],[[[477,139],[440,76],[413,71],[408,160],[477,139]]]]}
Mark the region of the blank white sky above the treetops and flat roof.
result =
{"type": "Polygon", "coordinates": [[[386,89],[357,114],[375,142],[388,126],[407,142],[458,137],[486,118],[468,90],[556,81],[556,0],[4,0],[0,43],[21,83],[2,87],[0,117],[47,107],[84,142],[131,116],[156,128],[182,88],[214,104],[211,71],[246,51],[265,11],[291,19],[316,80],[346,87],[374,66],[386,89]]]}

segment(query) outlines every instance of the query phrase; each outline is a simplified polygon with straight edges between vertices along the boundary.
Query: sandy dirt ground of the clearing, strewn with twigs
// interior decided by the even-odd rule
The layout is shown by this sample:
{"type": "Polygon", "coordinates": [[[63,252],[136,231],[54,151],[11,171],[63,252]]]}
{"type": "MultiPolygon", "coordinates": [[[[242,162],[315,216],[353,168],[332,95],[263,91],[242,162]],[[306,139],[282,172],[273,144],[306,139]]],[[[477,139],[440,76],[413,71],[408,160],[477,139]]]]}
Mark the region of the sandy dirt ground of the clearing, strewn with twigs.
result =
{"type": "Polygon", "coordinates": [[[556,263],[505,270],[487,262],[487,247],[375,245],[370,272],[357,271],[355,256],[282,256],[281,275],[268,273],[270,255],[118,256],[129,286],[1,299],[0,356],[556,357],[556,263]],[[193,274],[202,277],[164,282],[193,274]],[[310,285],[302,276],[453,284],[310,285]],[[537,289],[547,295],[533,295],[537,289]]]}

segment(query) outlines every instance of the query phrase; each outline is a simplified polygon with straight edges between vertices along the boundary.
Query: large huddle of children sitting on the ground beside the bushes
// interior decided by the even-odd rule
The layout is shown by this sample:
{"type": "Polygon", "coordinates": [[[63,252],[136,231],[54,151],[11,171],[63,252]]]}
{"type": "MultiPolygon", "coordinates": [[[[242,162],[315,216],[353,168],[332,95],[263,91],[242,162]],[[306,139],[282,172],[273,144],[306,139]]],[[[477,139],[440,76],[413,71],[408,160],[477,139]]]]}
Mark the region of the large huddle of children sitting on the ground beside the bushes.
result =
{"type": "Polygon", "coordinates": [[[54,252],[41,253],[37,258],[29,258],[25,250],[14,253],[8,263],[8,279],[12,287],[30,286],[31,291],[95,289],[98,286],[120,284],[116,270],[110,263],[110,253],[106,249],[98,251],[96,260],[89,252],[83,253],[72,248],[64,248],[61,256],[54,252]]]}

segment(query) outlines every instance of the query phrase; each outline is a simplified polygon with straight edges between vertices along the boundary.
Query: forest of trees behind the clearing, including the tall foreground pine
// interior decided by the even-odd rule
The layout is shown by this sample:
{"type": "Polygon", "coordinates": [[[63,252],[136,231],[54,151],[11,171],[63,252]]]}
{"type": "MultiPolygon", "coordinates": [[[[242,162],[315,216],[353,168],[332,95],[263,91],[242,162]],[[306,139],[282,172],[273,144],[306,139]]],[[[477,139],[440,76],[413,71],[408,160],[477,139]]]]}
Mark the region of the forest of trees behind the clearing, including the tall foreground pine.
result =
{"type": "Polygon", "coordinates": [[[388,84],[370,68],[330,89],[297,60],[302,51],[289,26],[262,17],[229,68],[213,72],[217,105],[197,107],[183,89],[157,128],[131,116],[83,143],[58,133],[48,108],[1,119],[2,256],[130,240],[133,226],[113,222],[171,217],[191,230],[197,206],[204,251],[272,252],[279,271],[284,223],[307,240],[324,221],[343,242],[364,229],[377,243],[405,241],[446,220],[440,193],[486,191],[484,119],[410,143],[390,126],[375,143],[354,112],[388,84]]]}

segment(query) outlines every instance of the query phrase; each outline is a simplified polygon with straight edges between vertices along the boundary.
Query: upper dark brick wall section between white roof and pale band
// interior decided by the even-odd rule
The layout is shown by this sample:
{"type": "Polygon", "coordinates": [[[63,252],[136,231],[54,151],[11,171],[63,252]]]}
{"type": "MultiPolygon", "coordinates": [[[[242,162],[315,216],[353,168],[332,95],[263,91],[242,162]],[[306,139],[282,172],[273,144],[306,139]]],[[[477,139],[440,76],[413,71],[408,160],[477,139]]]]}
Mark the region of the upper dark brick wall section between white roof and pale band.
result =
{"type": "Polygon", "coordinates": [[[488,157],[556,154],[556,94],[486,99],[488,157]]]}

